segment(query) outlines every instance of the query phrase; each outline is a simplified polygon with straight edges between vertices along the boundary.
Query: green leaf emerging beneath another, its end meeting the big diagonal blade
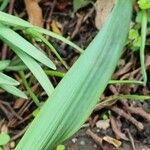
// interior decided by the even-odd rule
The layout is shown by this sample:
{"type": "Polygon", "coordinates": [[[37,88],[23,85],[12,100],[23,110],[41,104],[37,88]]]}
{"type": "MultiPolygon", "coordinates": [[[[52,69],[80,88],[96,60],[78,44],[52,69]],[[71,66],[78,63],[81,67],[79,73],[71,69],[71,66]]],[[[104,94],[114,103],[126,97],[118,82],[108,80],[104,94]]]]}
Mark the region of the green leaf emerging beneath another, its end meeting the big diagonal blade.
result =
{"type": "Polygon", "coordinates": [[[25,65],[30,69],[36,79],[39,81],[45,92],[50,96],[54,91],[53,85],[48,79],[47,75],[41,68],[41,66],[25,52],[18,49],[13,49],[13,51],[20,57],[20,59],[25,63],[25,65]]]}

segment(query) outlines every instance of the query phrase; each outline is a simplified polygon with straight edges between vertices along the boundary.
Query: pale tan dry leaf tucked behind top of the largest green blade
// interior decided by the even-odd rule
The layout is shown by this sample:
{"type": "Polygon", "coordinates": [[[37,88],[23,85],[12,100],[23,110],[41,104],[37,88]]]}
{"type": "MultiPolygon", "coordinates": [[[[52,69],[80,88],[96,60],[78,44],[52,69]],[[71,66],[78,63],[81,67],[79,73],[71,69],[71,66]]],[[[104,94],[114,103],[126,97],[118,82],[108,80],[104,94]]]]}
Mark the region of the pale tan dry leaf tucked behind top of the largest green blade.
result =
{"type": "Polygon", "coordinates": [[[114,6],[115,0],[97,0],[95,26],[100,29],[114,6]]]}

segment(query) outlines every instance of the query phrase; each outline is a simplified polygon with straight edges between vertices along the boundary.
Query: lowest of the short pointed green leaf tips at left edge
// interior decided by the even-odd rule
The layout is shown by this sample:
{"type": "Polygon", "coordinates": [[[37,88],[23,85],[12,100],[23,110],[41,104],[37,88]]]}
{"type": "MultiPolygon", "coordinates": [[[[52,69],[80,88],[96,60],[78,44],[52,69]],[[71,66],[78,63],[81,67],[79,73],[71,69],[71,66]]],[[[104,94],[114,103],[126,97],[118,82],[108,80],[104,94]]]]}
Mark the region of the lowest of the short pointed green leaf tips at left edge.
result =
{"type": "Polygon", "coordinates": [[[22,91],[20,91],[19,89],[17,89],[16,87],[12,85],[0,84],[0,87],[4,89],[5,91],[7,91],[8,93],[21,97],[23,99],[27,99],[27,96],[22,91]]]}

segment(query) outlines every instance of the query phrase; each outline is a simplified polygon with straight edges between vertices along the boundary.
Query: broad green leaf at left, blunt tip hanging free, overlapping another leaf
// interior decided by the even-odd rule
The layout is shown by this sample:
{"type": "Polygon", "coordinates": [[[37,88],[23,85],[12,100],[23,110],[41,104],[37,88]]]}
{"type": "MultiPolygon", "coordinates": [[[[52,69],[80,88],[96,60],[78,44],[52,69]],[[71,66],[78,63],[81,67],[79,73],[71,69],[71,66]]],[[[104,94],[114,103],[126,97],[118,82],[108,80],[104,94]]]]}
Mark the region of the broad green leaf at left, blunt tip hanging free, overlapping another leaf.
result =
{"type": "Polygon", "coordinates": [[[9,29],[8,27],[0,24],[0,39],[5,42],[12,49],[18,49],[24,51],[34,59],[48,66],[49,68],[56,69],[53,62],[47,58],[41,51],[35,46],[22,38],[19,34],[9,29]]]}

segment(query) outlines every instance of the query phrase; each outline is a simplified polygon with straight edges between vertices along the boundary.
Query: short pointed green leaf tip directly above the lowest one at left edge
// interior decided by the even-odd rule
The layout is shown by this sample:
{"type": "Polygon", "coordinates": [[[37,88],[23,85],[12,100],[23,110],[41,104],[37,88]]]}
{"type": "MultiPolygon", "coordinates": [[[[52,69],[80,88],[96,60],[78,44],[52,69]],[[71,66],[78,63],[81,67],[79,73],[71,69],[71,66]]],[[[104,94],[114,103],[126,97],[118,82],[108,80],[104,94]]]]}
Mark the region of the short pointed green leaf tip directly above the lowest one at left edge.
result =
{"type": "Polygon", "coordinates": [[[0,72],[0,84],[19,85],[19,82],[0,72]]]}

